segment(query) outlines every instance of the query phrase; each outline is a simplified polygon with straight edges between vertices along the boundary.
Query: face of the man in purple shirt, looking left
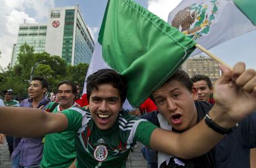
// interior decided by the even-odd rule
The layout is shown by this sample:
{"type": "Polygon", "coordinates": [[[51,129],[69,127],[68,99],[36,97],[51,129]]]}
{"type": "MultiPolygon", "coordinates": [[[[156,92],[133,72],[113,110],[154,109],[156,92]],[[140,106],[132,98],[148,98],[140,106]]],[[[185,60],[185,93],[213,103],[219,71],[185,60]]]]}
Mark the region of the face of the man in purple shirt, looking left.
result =
{"type": "Polygon", "coordinates": [[[46,91],[47,88],[43,88],[40,80],[32,80],[28,87],[28,95],[33,99],[42,99],[46,91]]]}

